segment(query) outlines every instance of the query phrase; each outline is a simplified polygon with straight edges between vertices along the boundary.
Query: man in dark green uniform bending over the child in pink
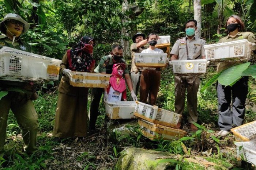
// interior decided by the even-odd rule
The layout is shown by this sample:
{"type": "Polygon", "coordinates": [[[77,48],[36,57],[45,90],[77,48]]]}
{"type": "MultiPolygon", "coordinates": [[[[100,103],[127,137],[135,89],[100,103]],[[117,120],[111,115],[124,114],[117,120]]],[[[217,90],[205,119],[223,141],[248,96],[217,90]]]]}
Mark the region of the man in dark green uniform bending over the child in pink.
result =
{"type": "MultiPolygon", "coordinates": [[[[123,53],[124,53],[124,50],[122,46],[113,45],[110,55],[106,55],[101,58],[101,61],[99,62],[99,65],[94,69],[94,72],[111,74],[112,67],[115,63],[124,63],[125,64],[125,70],[124,70],[125,81],[127,83],[128,89],[131,92],[132,99],[137,100],[137,96],[134,93],[132,88],[132,81],[129,76],[127,63],[123,59],[123,53]]],[[[105,103],[108,100],[107,88],[93,88],[91,90],[91,104],[90,104],[90,112],[89,112],[90,114],[89,131],[91,134],[93,134],[94,132],[97,132],[95,125],[98,117],[99,102],[101,100],[102,93],[104,94],[103,102],[105,103]]]]}

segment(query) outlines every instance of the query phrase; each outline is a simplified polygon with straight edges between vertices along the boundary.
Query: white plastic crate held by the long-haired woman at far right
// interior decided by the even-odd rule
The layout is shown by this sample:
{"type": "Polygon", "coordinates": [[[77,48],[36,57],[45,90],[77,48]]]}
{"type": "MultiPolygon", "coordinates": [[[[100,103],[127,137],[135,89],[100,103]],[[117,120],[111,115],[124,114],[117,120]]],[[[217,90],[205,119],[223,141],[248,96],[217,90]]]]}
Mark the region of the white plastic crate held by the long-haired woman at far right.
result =
{"type": "Polygon", "coordinates": [[[204,49],[207,60],[234,57],[249,59],[251,55],[249,41],[247,39],[204,45],[204,49]]]}

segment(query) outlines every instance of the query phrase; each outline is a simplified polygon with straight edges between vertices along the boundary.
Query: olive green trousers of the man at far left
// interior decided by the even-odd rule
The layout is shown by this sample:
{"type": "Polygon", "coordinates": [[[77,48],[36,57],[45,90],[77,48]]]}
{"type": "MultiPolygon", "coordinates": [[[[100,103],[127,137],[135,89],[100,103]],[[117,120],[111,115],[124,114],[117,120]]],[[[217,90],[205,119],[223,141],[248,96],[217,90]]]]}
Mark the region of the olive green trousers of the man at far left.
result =
{"type": "Polygon", "coordinates": [[[37,150],[38,115],[35,112],[34,104],[31,100],[28,100],[25,104],[13,103],[12,98],[16,96],[16,92],[9,92],[7,96],[0,100],[0,154],[4,152],[4,140],[10,109],[22,130],[24,150],[27,153],[37,150]]]}

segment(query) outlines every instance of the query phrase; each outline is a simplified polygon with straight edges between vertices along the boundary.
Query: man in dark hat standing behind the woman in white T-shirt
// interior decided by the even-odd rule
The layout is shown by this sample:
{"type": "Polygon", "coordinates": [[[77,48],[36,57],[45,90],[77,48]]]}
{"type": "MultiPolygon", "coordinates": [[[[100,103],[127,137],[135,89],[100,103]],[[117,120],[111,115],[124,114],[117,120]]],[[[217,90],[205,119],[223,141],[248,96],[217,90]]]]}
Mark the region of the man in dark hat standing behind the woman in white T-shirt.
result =
{"type": "Polygon", "coordinates": [[[137,95],[138,88],[140,85],[140,74],[141,71],[135,66],[135,55],[134,53],[141,53],[144,49],[144,45],[147,44],[147,39],[145,39],[145,34],[138,32],[132,37],[133,43],[131,44],[131,57],[132,57],[132,66],[131,66],[131,79],[132,79],[132,87],[137,95]]]}

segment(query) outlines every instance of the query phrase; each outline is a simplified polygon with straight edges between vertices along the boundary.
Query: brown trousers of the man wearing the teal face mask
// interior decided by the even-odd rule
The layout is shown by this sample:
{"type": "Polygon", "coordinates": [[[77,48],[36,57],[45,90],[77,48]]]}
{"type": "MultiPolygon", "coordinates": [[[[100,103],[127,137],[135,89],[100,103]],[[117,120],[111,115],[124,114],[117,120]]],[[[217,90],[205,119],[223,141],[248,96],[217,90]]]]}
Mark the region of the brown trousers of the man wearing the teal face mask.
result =
{"type": "MultiPolygon", "coordinates": [[[[188,122],[197,122],[197,91],[200,79],[197,76],[175,76],[175,112],[182,115],[185,108],[185,93],[187,89],[188,122]]],[[[181,119],[180,119],[181,122],[181,119]]]]}

